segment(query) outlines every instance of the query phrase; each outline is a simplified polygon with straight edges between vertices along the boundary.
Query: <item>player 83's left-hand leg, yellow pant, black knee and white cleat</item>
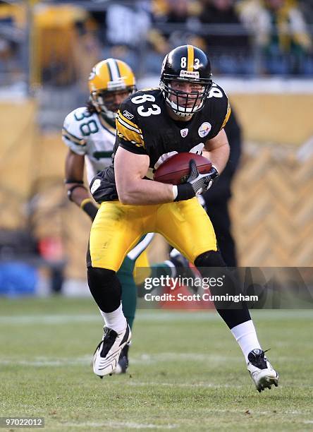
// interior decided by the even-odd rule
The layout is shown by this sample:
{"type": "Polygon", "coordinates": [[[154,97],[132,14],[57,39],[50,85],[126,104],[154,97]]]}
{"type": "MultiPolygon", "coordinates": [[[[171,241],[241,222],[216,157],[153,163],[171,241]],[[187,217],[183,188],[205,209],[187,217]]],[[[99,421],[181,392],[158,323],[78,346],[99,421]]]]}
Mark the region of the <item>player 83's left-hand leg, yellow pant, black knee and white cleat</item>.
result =
{"type": "Polygon", "coordinates": [[[104,337],[94,353],[94,373],[101,377],[116,368],[121,349],[130,340],[116,271],[142,236],[142,227],[132,223],[134,217],[138,214],[133,206],[102,203],[90,232],[88,284],[105,321],[104,337]]]}

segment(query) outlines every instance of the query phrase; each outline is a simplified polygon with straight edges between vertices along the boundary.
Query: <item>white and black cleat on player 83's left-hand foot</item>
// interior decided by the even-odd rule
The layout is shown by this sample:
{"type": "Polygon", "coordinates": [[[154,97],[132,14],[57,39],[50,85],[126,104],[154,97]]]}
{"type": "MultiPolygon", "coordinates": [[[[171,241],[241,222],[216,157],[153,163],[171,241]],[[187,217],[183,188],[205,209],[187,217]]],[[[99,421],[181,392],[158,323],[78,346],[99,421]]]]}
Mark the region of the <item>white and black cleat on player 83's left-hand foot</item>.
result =
{"type": "Polygon", "coordinates": [[[104,327],[102,341],[99,342],[94,351],[93,370],[97,376],[103,378],[114,371],[121,351],[125,347],[125,344],[130,341],[131,335],[132,333],[127,323],[125,330],[121,333],[117,333],[112,328],[104,327]]]}

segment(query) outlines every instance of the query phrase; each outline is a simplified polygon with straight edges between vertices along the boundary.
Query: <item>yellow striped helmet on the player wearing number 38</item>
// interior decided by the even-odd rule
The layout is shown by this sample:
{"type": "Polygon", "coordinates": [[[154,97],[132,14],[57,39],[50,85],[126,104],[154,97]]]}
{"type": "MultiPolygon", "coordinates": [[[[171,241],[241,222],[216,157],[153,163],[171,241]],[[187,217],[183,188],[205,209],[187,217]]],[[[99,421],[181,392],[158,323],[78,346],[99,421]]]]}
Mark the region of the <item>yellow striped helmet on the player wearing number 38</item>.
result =
{"type": "Polygon", "coordinates": [[[99,114],[113,120],[122,100],[136,90],[135,84],[133,71],[124,61],[99,61],[89,77],[90,101],[99,114]]]}

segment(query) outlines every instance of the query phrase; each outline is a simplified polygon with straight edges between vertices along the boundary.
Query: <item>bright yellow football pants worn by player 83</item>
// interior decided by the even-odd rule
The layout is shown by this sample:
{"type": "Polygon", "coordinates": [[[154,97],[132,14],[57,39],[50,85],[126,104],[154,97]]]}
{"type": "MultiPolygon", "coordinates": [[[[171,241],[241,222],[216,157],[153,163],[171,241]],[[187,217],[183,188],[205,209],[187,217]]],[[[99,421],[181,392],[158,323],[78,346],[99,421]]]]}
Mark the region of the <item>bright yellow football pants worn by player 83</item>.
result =
{"type": "Polygon", "coordinates": [[[148,232],[158,232],[191,263],[216,251],[214,229],[197,198],[156,205],[101,204],[90,232],[92,267],[117,271],[126,254],[148,232]]]}

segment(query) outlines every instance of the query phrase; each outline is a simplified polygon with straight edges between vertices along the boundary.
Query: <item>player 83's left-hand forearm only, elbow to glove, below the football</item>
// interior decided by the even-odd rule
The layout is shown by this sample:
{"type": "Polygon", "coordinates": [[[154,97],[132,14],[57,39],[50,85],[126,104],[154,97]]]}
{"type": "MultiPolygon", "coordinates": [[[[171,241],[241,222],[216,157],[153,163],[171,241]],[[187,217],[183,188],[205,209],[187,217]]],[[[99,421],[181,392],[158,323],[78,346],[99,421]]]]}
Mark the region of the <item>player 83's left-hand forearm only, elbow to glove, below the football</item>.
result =
{"type": "Polygon", "coordinates": [[[118,185],[118,199],[122,204],[147,205],[171,203],[173,186],[159,181],[138,179],[124,185],[118,185]]]}

